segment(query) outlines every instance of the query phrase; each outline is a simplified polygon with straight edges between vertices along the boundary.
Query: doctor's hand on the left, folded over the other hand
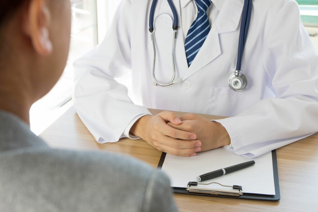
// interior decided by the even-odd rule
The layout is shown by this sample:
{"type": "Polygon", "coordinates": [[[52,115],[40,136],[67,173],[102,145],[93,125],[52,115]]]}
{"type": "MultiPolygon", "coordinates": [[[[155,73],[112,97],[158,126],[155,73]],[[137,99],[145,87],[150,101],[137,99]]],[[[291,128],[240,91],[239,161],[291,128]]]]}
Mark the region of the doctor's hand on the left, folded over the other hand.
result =
{"type": "Polygon", "coordinates": [[[171,122],[182,122],[174,112],[163,111],[155,116],[145,115],[130,128],[130,133],[141,137],[159,151],[177,156],[194,156],[201,150],[201,141],[194,133],[170,127],[171,122]]]}

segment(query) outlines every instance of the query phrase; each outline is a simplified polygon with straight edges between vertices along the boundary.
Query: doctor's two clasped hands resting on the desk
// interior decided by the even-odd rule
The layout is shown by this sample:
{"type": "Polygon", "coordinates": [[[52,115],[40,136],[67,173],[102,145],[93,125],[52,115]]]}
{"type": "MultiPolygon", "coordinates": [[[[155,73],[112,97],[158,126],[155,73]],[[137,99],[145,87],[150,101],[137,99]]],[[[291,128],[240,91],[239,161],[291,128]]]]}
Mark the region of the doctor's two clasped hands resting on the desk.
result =
{"type": "Polygon", "coordinates": [[[188,113],[163,111],[145,115],[135,122],[130,132],[147,141],[159,151],[178,156],[194,156],[230,144],[226,129],[218,122],[188,113]]]}

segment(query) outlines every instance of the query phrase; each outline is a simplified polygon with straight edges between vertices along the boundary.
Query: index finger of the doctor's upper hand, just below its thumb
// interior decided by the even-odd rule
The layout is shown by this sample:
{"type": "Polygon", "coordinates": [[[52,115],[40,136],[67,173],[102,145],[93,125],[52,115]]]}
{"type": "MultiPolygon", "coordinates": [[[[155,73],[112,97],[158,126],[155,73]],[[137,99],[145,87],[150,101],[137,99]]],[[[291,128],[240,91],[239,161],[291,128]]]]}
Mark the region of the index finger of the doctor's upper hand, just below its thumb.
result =
{"type": "MultiPolygon", "coordinates": [[[[171,122],[169,122],[171,123],[171,122]]],[[[180,125],[174,125],[180,126],[180,125]]],[[[167,135],[171,138],[182,139],[182,140],[195,140],[197,138],[196,134],[187,131],[179,130],[174,127],[170,127],[168,124],[164,123],[162,126],[158,127],[157,131],[163,135],[167,135]]]]}

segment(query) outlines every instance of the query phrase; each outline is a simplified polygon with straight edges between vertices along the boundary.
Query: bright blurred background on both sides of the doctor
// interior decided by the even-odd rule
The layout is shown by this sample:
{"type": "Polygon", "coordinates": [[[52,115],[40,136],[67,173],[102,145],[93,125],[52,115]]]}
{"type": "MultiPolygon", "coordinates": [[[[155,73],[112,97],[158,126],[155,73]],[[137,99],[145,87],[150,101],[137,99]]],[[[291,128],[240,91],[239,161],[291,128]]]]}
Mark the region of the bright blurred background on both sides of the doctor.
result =
{"type": "MultiPolygon", "coordinates": [[[[74,60],[99,44],[121,0],[70,0],[72,3],[71,46],[66,68],[53,89],[30,110],[31,130],[40,134],[72,105],[74,60]]],[[[301,20],[318,49],[318,0],[297,0],[301,20]]]]}

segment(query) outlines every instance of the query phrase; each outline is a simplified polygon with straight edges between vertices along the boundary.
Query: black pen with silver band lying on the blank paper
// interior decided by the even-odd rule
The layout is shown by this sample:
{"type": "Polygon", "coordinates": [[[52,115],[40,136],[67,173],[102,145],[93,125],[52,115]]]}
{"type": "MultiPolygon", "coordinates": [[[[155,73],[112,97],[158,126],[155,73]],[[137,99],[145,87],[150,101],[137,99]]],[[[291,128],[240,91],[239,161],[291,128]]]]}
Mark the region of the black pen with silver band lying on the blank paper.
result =
{"type": "Polygon", "coordinates": [[[219,170],[216,170],[216,171],[209,172],[209,173],[202,174],[202,175],[198,176],[197,177],[197,181],[201,182],[201,181],[205,181],[205,180],[210,180],[212,178],[219,177],[219,176],[222,176],[224,174],[231,173],[231,172],[235,172],[235,171],[238,171],[240,169],[252,166],[254,164],[255,164],[255,161],[248,161],[248,162],[240,163],[240,164],[237,164],[237,165],[234,165],[234,166],[221,168],[219,170]]]}

